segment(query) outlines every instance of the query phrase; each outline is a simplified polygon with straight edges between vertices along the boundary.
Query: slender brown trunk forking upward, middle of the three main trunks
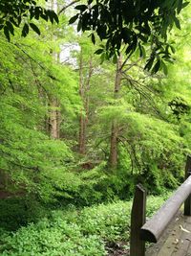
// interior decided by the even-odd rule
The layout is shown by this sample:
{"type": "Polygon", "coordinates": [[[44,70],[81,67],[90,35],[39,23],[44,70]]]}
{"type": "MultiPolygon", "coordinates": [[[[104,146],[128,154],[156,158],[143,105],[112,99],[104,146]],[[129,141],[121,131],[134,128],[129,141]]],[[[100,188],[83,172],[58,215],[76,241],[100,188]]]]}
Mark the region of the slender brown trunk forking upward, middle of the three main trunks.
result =
{"type": "MultiPolygon", "coordinates": [[[[87,81],[83,81],[83,58],[82,51],[80,53],[79,59],[79,95],[82,99],[84,113],[80,114],[79,118],[79,153],[86,153],[86,130],[88,125],[88,115],[89,115],[89,90],[90,81],[93,74],[92,57],[89,60],[89,73],[87,81]]],[[[82,110],[83,111],[83,110],[82,110]]]]}

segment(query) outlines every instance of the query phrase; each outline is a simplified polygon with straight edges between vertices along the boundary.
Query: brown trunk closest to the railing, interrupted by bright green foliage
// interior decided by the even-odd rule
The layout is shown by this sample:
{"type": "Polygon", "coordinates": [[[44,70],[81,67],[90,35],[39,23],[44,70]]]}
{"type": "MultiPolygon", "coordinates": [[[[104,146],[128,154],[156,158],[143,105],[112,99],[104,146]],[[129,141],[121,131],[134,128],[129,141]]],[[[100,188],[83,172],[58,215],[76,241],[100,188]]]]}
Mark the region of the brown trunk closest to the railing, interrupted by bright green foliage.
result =
{"type": "MultiPolygon", "coordinates": [[[[117,100],[120,83],[121,83],[121,66],[122,66],[122,57],[121,55],[117,59],[117,71],[116,71],[116,81],[114,89],[114,98],[117,100]]],[[[110,138],[110,156],[109,156],[109,165],[111,168],[117,167],[117,137],[118,137],[118,125],[117,120],[113,121],[111,128],[111,138],[110,138]]]]}

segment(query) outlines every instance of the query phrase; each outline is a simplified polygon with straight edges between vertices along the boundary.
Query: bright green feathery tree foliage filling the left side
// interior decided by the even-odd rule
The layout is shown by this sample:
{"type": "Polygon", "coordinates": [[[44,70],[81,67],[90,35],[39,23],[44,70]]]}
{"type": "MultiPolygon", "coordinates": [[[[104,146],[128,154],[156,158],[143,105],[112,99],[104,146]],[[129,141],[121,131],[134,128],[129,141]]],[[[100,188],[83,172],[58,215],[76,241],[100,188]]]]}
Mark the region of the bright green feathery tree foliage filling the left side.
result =
{"type": "MultiPolygon", "coordinates": [[[[69,179],[66,177],[69,169],[65,161],[72,159],[67,139],[55,141],[47,136],[49,100],[56,99],[62,117],[70,118],[75,115],[79,97],[71,68],[58,63],[51,53],[59,51],[56,41],[61,40],[52,38],[51,31],[57,34],[59,28],[49,27],[47,35],[40,21],[38,26],[41,37],[31,33],[20,38],[15,34],[8,42],[0,35],[0,170],[7,178],[4,190],[22,190],[31,199],[49,200],[63,180],[74,180],[70,174],[69,179]]],[[[65,23],[60,26],[63,29],[65,23]]]]}

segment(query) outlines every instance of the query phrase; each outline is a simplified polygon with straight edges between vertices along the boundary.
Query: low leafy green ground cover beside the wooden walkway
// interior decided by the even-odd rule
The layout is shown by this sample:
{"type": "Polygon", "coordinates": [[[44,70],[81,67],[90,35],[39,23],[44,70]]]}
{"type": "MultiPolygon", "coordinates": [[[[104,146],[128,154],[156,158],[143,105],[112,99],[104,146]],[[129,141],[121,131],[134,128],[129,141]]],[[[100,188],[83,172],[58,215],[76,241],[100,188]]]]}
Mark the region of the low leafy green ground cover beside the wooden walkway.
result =
{"type": "MultiPolygon", "coordinates": [[[[163,197],[148,197],[147,216],[157,211],[163,197]]],[[[123,242],[129,247],[132,200],[92,207],[52,210],[39,221],[16,231],[0,229],[2,256],[103,256],[108,244],[123,242]]],[[[18,213],[19,214],[19,213],[18,213]]]]}

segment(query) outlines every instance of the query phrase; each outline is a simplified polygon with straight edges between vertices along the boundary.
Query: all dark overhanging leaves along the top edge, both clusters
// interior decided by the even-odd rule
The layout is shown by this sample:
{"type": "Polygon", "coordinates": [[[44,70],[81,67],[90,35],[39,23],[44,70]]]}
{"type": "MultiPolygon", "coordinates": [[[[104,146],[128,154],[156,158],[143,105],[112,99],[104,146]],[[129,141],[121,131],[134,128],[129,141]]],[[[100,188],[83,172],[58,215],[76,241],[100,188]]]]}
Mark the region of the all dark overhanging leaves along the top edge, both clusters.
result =
{"type": "MultiPolygon", "coordinates": [[[[78,2],[80,1],[74,1],[70,5],[78,2]]],[[[149,43],[152,50],[145,69],[153,68],[152,71],[157,73],[160,66],[171,61],[174,48],[168,42],[167,35],[173,26],[180,29],[179,14],[188,3],[182,0],[89,0],[87,4],[75,6],[78,13],[69,23],[78,20],[77,31],[91,31],[93,43],[96,43],[95,32],[100,40],[106,39],[105,47],[96,51],[97,54],[102,54],[102,58],[117,58],[124,44],[127,56],[131,56],[138,48],[139,56],[143,57],[145,44],[149,43]]],[[[52,10],[44,8],[44,5],[39,6],[34,0],[3,0],[0,3],[0,30],[4,31],[8,40],[14,35],[14,27],[20,26],[23,36],[28,35],[30,29],[40,35],[38,26],[32,20],[42,18],[58,23],[58,15],[53,11],[54,3],[50,8],[52,10]]],[[[59,13],[64,10],[62,7],[59,13]]]]}

